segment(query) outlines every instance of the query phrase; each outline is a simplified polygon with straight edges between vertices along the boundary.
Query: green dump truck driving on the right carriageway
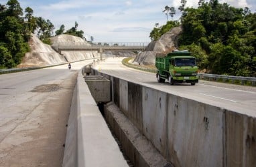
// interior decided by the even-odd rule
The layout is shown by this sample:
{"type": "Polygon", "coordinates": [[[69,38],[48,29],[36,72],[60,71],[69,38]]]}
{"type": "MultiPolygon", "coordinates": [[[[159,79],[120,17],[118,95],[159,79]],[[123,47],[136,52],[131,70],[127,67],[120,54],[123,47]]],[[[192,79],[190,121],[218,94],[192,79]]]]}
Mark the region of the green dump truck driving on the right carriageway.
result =
{"type": "Polygon", "coordinates": [[[165,82],[168,79],[172,85],[186,82],[194,86],[198,83],[196,58],[187,50],[173,51],[164,56],[156,55],[155,67],[158,82],[165,82]]]}

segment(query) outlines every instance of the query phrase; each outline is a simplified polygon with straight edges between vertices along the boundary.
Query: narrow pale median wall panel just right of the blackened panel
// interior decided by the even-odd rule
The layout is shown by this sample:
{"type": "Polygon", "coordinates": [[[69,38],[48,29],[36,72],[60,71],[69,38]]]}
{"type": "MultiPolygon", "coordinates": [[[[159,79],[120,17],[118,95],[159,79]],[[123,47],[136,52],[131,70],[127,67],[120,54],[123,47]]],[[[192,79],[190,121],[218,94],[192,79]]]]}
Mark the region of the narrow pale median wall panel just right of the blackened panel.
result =
{"type": "Polygon", "coordinates": [[[166,155],[166,96],[164,92],[142,88],[143,133],[155,148],[166,155]]]}

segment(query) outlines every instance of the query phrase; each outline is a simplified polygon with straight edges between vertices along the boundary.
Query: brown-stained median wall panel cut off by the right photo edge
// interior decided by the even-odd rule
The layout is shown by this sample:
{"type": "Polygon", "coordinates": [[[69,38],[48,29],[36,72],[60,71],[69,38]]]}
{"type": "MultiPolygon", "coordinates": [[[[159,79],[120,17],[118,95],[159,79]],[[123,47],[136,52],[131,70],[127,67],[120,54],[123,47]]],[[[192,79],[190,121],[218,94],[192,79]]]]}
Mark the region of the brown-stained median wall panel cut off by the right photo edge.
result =
{"type": "Polygon", "coordinates": [[[256,166],[256,120],[231,111],[226,117],[227,166],[256,166]]]}

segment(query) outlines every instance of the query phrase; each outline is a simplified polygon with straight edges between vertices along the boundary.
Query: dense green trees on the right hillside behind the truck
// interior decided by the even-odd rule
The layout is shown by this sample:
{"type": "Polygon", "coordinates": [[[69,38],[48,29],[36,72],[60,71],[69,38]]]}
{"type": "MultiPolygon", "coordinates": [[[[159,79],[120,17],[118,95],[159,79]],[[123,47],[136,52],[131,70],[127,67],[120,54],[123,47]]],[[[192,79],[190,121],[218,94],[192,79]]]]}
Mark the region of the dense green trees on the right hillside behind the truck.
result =
{"type": "Polygon", "coordinates": [[[156,24],[149,35],[152,41],[181,25],[179,49],[190,50],[200,69],[215,74],[256,77],[256,13],[247,7],[238,9],[218,3],[218,0],[200,0],[197,9],[185,8],[186,1],[181,4],[180,21],[167,21],[160,27],[156,24]]]}

